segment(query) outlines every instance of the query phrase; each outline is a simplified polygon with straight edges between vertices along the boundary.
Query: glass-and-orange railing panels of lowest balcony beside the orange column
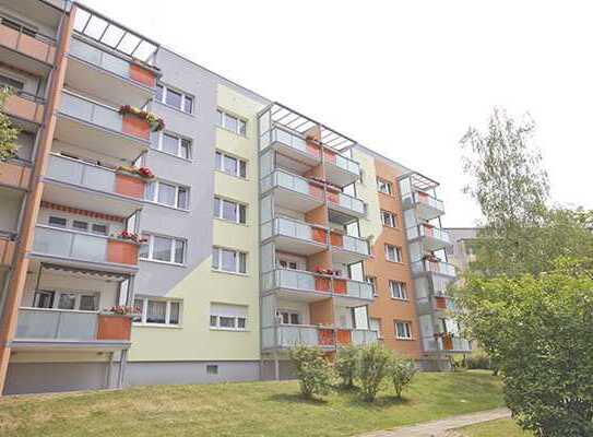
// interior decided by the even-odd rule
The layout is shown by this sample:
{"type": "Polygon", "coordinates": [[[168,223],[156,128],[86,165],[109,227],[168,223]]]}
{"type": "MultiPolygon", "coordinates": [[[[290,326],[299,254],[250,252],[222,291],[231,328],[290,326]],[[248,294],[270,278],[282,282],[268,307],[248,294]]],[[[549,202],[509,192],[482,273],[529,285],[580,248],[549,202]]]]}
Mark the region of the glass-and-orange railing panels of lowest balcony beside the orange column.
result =
{"type": "Polygon", "coordinates": [[[131,318],[49,308],[21,308],[15,340],[130,340],[131,318]]]}

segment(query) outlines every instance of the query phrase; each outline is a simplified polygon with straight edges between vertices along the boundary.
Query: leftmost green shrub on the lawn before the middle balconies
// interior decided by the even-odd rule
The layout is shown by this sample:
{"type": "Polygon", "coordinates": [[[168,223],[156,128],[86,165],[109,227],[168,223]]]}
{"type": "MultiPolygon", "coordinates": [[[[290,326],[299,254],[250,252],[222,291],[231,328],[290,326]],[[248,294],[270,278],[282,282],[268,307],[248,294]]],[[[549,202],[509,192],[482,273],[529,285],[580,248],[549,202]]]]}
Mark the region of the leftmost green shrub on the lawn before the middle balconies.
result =
{"type": "Polygon", "coordinates": [[[331,367],[319,347],[295,345],[290,349],[300,392],[306,399],[312,399],[315,394],[329,394],[331,389],[331,367]]]}

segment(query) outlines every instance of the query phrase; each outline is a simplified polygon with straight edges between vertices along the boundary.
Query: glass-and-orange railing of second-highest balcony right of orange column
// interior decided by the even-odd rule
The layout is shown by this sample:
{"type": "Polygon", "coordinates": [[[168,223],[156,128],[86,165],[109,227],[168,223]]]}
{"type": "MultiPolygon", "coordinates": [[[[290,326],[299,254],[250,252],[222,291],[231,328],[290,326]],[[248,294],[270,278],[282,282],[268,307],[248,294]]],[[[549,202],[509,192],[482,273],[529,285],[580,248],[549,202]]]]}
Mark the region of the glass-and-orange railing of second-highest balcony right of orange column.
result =
{"type": "Polygon", "coordinates": [[[132,115],[122,116],[110,106],[92,102],[80,95],[63,92],[60,113],[110,131],[147,141],[149,123],[132,115]]]}

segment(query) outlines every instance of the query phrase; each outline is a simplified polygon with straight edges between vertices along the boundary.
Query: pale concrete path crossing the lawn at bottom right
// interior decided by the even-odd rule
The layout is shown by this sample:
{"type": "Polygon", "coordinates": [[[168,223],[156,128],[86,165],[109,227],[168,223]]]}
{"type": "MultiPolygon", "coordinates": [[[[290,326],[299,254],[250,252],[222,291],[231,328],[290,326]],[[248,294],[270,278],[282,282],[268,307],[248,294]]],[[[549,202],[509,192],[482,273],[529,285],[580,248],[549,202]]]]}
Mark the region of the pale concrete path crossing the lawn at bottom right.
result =
{"type": "Polygon", "coordinates": [[[482,422],[508,418],[511,412],[507,409],[488,410],[479,413],[464,414],[441,418],[440,421],[425,422],[418,425],[402,426],[391,430],[379,430],[364,434],[359,437],[446,437],[448,430],[474,425],[482,422]]]}

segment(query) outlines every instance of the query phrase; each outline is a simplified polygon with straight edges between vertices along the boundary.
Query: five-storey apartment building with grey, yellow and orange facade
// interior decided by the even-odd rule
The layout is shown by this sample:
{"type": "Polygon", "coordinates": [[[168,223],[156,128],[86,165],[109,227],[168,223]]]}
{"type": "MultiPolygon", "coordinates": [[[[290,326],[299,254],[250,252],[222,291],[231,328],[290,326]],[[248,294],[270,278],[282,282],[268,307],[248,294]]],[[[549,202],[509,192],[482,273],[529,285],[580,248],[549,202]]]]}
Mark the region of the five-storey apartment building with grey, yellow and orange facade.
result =
{"type": "Polygon", "coordinates": [[[0,0],[0,392],[467,351],[430,179],[75,2],[0,0]]]}

